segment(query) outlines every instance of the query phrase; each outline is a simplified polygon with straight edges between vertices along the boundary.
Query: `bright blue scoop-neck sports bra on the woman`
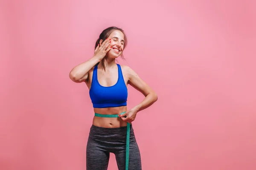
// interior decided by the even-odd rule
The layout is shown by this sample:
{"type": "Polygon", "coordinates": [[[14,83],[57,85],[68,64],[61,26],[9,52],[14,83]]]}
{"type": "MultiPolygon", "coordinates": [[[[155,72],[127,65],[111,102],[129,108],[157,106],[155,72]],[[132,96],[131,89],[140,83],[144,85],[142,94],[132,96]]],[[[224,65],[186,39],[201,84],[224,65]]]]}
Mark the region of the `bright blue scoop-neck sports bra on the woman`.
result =
{"type": "Polygon", "coordinates": [[[118,79],[115,85],[105,87],[98,82],[98,65],[93,69],[92,84],[89,91],[93,108],[111,108],[127,105],[128,91],[122,75],[122,69],[119,64],[118,79]]]}

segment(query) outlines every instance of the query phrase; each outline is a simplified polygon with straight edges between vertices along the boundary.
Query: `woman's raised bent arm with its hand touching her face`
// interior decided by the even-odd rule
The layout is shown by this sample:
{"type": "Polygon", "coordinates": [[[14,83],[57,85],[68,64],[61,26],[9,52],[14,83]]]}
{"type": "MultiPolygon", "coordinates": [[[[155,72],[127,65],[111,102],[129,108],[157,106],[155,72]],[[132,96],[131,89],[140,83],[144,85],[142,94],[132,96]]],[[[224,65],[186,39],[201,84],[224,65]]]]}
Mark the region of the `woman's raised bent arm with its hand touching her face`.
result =
{"type": "Polygon", "coordinates": [[[94,51],[94,56],[88,59],[86,62],[77,65],[70,71],[70,79],[73,82],[84,82],[87,80],[90,69],[100,62],[105,57],[107,52],[111,50],[110,44],[111,42],[108,40],[105,40],[104,42],[101,40],[100,45],[98,44],[94,51]]]}

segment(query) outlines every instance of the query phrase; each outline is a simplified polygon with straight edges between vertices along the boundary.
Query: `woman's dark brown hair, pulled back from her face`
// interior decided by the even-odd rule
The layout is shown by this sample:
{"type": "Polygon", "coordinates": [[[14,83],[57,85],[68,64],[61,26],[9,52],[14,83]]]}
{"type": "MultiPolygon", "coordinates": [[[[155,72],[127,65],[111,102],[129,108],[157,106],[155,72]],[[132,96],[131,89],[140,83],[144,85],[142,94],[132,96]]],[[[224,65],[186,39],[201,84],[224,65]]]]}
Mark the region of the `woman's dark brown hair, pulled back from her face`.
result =
{"type": "MultiPolygon", "coordinates": [[[[106,39],[109,37],[109,35],[110,35],[113,31],[115,31],[115,30],[119,30],[119,31],[121,31],[121,32],[124,34],[124,41],[125,41],[125,43],[124,43],[124,49],[125,49],[125,47],[126,47],[126,45],[127,45],[127,37],[126,37],[126,35],[125,35],[125,32],[124,32],[124,30],[122,30],[122,28],[118,28],[118,27],[115,27],[115,26],[108,27],[108,28],[106,28],[105,30],[102,31],[102,33],[99,35],[98,40],[97,40],[96,43],[95,43],[95,48],[94,48],[94,49],[96,49],[96,47],[98,46],[100,40],[103,40],[103,41],[106,40],[106,39]]],[[[121,57],[122,57],[122,59],[125,59],[124,56],[123,56],[123,53],[121,54],[121,57]]],[[[98,65],[98,64],[99,64],[99,63],[97,63],[97,65],[98,65]]]]}

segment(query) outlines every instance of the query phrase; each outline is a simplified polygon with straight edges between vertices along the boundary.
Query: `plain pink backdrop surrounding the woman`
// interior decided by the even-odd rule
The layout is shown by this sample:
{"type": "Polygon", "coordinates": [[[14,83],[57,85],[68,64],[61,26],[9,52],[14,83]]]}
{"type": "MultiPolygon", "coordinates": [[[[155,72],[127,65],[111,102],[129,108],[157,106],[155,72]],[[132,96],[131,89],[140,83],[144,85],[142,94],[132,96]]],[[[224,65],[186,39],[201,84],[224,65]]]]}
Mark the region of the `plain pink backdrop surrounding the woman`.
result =
{"type": "Polygon", "coordinates": [[[253,0],[1,1],[0,169],[86,169],[93,108],[68,74],[119,26],[119,63],[159,97],[134,121],[143,170],[255,170],[255,17],[253,0]]]}

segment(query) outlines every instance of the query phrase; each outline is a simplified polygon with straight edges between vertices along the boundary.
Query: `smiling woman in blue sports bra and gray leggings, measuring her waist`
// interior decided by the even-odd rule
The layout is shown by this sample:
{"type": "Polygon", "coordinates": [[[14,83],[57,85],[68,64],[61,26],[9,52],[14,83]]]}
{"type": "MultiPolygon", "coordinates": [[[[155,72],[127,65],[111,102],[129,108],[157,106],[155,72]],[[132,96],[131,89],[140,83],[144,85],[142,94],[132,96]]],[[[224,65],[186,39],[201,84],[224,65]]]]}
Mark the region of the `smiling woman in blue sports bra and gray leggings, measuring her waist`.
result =
{"type": "Polygon", "coordinates": [[[106,28],[96,41],[94,56],[70,71],[70,79],[86,83],[95,112],[87,142],[87,170],[107,170],[110,153],[115,154],[119,170],[142,168],[131,122],[157,101],[157,94],[130,67],[116,64],[126,45],[121,28],[106,28]],[[128,84],[145,96],[130,110],[128,84]]]}

